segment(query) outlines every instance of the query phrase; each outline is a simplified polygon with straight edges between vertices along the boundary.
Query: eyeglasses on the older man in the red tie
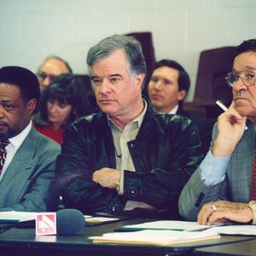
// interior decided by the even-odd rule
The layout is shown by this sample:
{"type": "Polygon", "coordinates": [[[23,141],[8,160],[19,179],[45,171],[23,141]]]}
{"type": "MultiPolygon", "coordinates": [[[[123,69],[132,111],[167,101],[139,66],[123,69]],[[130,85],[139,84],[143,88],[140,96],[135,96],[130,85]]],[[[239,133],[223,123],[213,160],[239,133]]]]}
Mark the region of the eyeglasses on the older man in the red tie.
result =
{"type": "Polygon", "coordinates": [[[236,81],[241,78],[241,82],[246,86],[253,86],[255,84],[256,74],[252,71],[245,70],[241,73],[232,71],[227,74],[226,80],[230,87],[234,87],[236,81]]]}

